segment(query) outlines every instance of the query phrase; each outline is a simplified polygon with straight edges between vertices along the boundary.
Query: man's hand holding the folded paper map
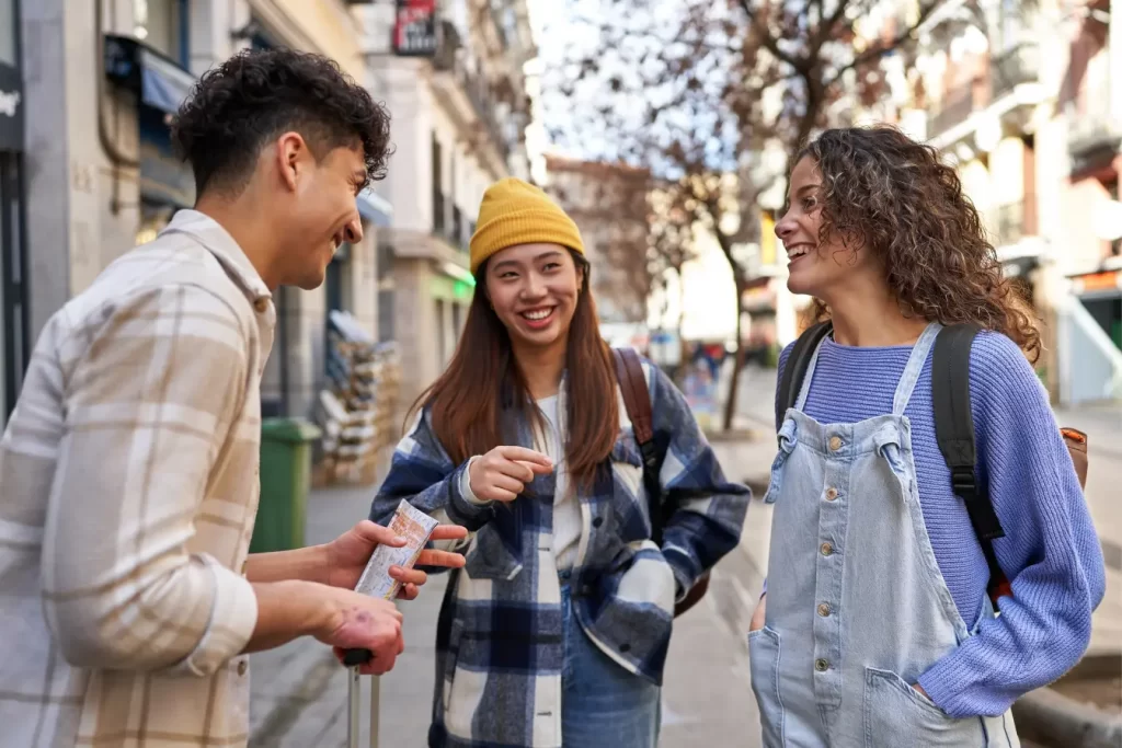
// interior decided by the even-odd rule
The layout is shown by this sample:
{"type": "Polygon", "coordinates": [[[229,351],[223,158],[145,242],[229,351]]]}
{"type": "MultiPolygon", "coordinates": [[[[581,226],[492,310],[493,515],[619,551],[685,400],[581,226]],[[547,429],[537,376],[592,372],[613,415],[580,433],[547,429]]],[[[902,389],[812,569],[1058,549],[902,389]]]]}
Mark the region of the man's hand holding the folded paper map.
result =
{"type": "MultiPolygon", "coordinates": [[[[465,527],[439,525],[432,532],[432,539],[458,541],[467,535],[468,530],[465,527]]],[[[364,519],[323,546],[328,584],[353,590],[376,545],[390,545],[399,548],[405,545],[405,538],[397,537],[388,527],[375,525],[369,519],[364,519]]],[[[463,556],[448,551],[425,550],[421,552],[416,563],[419,566],[459,569],[463,565],[463,556]]],[[[402,569],[401,566],[390,566],[389,575],[402,582],[402,590],[397,597],[404,600],[416,598],[420,593],[417,588],[424,584],[427,579],[423,571],[402,569]]]]}

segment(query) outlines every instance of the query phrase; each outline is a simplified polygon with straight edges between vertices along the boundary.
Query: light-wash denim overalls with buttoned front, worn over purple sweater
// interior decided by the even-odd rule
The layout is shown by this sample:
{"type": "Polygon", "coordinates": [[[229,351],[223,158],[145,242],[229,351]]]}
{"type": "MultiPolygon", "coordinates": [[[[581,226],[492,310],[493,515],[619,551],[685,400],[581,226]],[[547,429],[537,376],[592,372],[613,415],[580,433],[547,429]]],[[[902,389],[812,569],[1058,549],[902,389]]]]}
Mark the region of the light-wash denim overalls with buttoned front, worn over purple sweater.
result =
{"type": "Polygon", "coordinates": [[[931,551],[903,415],[938,332],[912,349],[891,415],[802,413],[816,351],[784,416],[764,497],[775,505],[765,626],[748,635],[767,748],[1020,745],[1008,712],[954,719],[910,685],[973,634],[931,551]]]}

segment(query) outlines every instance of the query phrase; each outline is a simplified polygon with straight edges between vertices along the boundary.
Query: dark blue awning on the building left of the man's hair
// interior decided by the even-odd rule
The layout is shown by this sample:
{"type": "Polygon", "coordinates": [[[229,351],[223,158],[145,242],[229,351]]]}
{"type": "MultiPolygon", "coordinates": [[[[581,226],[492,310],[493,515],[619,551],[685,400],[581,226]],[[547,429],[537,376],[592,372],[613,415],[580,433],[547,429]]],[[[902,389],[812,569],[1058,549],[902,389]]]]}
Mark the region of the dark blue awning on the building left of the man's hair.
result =
{"type": "Polygon", "coordinates": [[[135,91],[153,109],[174,114],[191,94],[195,76],[142,41],[105,35],[105,75],[135,91]]]}

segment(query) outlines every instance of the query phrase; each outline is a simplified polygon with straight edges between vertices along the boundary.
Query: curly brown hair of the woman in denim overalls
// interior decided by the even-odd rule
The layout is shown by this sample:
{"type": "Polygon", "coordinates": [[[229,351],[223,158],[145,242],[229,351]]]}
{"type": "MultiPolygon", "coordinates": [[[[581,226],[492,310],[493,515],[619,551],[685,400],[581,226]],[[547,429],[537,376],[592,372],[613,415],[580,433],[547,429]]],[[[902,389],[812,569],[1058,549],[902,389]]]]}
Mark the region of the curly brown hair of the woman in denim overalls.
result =
{"type": "MultiPolygon", "coordinates": [[[[793,164],[804,157],[822,176],[819,241],[876,252],[905,315],[1004,333],[1037,360],[1032,307],[1003,276],[977,210],[935,148],[877,126],[826,130],[793,164]]],[[[828,316],[816,299],[811,318],[828,316]]]]}

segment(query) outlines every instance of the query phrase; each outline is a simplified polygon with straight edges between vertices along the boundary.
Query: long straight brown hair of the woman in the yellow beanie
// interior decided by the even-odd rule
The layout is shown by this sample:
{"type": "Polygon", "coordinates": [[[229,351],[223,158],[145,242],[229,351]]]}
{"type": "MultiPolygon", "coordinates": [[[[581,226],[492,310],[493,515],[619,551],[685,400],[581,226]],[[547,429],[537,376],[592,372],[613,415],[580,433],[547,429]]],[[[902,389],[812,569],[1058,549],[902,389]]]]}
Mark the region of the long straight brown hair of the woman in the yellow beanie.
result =
{"type": "MultiPolygon", "coordinates": [[[[611,453],[619,412],[615,366],[600,336],[588,262],[576,252],[570,255],[585,280],[565,351],[565,463],[573,479],[587,487],[597,465],[611,453]]],[[[456,464],[504,443],[504,410],[515,409],[531,423],[541,424],[541,412],[514,359],[511,335],[487,298],[486,275],[485,262],[476,273],[476,293],[452,361],[410,409],[411,418],[419,408],[429,409],[433,432],[456,464]]]]}

